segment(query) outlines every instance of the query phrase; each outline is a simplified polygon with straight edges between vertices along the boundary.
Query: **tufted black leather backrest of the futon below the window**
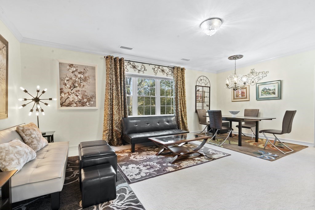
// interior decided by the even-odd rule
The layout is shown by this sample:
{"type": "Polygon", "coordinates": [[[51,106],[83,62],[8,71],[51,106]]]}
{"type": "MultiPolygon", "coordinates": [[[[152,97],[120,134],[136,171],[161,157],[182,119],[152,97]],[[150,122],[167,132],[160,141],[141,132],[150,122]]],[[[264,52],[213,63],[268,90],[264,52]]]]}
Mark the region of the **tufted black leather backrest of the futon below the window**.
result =
{"type": "Polygon", "coordinates": [[[123,117],[123,133],[178,129],[175,116],[123,117]]]}

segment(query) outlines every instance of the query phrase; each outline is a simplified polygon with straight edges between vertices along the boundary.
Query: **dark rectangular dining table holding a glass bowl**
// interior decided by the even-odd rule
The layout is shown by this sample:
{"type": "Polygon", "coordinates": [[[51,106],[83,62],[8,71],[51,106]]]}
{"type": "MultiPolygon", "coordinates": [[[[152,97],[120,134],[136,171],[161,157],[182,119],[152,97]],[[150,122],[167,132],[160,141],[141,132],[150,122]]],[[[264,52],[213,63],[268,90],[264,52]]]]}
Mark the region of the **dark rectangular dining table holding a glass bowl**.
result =
{"type": "MultiPolygon", "coordinates": [[[[206,115],[206,117],[209,117],[206,115]]],[[[255,142],[258,142],[258,131],[259,131],[259,121],[262,120],[272,120],[275,117],[251,117],[251,116],[236,116],[222,115],[222,121],[228,121],[229,127],[232,128],[232,122],[238,122],[238,146],[242,146],[242,122],[245,121],[255,121],[256,131],[255,131],[255,142]]],[[[215,134],[215,129],[212,129],[212,134],[215,134]]],[[[230,133],[232,137],[232,132],[230,133]]]]}

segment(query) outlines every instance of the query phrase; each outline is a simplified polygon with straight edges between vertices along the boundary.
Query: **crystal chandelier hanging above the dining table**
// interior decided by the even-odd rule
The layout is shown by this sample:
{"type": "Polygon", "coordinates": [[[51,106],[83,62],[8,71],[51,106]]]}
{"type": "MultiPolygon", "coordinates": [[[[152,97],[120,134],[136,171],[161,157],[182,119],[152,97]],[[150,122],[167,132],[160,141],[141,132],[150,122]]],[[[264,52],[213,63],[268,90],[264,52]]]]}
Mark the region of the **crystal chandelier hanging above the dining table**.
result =
{"type": "Polygon", "coordinates": [[[236,60],[243,58],[243,55],[232,55],[228,57],[229,60],[235,60],[234,74],[226,77],[226,87],[227,89],[238,90],[245,87],[247,78],[246,76],[236,73],[236,60]]]}

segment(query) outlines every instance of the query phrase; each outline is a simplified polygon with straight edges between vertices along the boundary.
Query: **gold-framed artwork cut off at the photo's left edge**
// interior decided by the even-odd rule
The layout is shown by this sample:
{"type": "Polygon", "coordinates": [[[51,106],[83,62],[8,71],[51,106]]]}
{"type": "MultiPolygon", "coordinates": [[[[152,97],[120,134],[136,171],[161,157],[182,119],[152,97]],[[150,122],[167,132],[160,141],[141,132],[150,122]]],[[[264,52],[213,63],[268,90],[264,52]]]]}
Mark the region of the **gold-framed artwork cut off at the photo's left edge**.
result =
{"type": "Polygon", "coordinates": [[[0,119],[8,118],[9,43],[0,35],[0,119]]]}

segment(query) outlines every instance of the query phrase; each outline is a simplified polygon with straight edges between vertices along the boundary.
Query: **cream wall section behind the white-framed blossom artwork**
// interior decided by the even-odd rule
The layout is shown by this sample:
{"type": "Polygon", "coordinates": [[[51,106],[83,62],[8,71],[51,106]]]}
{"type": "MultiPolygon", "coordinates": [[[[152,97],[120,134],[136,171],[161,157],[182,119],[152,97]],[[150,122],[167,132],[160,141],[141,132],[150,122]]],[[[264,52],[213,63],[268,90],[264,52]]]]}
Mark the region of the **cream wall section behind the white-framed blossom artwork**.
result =
{"type": "MultiPolygon", "coordinates": [[[[81,141],[102,139],[104,117],[104,94],[106,67],[104,56],[79,53],[58,48],[21,43],[22,86],[31,94],[36,93],[36,85],[47,88],[45,95],[57,98],[57,62],[93,63],[98,65],[98,109],[58,110],[57,101],[49,101],[50,107],[43,107],[45,116],[39,115],[41,131],[56,131],[54,141],[70,141],[76,147],[81,141]]],[[[19,110],[22,122],[37,123],[36,116],[28,116],[31,107],[19,110]]]]}

